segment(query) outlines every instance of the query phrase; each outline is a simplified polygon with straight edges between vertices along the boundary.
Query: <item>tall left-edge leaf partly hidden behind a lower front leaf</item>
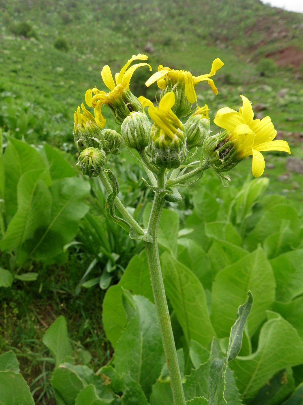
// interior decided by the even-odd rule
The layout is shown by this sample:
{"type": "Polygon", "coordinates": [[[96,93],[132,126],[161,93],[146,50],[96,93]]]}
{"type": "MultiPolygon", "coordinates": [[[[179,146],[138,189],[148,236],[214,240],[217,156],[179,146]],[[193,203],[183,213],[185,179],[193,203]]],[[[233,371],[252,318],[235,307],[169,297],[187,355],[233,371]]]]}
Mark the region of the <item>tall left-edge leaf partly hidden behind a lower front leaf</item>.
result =
{"type": "Polygon", "coordinates": [[[5,169],[5,209],[8,222],[17,211],[17,185],[21,176],[27,171],[42,170],[42,180],[47,186],[51,179],[46,164],[40,153],[27,143],[11,138],[4,153],[5,169]]]}

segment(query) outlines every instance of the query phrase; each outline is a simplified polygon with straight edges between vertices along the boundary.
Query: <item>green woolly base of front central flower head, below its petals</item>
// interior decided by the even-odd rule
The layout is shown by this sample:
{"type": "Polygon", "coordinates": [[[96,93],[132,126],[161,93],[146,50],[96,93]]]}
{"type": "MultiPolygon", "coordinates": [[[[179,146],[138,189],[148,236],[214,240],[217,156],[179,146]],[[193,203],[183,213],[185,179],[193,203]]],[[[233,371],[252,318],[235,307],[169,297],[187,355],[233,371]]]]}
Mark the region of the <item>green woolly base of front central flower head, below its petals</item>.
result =
{"type": "Polygon", "coordinates": [[[171,138],[158,126],[153,125],[148,151],[155,166],[177,168],[185,161],[187,155],[185,134],[177,128],[171,138]]]}

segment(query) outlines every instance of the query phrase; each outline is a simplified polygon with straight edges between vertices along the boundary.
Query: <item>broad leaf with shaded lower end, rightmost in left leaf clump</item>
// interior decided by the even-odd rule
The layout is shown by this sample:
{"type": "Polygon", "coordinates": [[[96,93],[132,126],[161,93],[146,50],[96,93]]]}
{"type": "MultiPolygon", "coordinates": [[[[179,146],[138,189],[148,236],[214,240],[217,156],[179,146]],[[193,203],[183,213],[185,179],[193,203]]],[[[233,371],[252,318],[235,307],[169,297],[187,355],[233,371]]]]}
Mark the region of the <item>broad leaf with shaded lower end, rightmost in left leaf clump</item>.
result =
{"type": "Polygon", "coordinates": [[[88,206],[83,202],[88,196],[88,181],[78,177],[66,177],[53,181],[50,187],[53,203],[48,226],[40,227],[33,239],[25,243],[29,257],[51,260],[63,252],[63,247],[78,233],[79,221],[88,206]]]}

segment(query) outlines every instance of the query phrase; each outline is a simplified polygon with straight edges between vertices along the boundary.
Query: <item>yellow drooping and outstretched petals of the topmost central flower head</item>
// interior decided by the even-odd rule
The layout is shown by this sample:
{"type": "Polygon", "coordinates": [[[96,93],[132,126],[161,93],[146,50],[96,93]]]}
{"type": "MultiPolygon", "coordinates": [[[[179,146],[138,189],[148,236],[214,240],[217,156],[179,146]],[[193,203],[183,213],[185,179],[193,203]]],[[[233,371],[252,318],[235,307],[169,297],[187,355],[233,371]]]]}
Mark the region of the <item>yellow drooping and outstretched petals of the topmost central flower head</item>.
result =
{"type": "Polygon", "coordinates": [[[214,76],[217,70],[219,70],[223,65],[224,63],[219,58],[217,58],[213,61],[211,70],[208,74],[200,75],[197,77],[191,75],[191,72],[187,72],[186,70],[174,70],[170,68],[164,68],[163,65],[160,65],[158,67],[158,72],[154,73],[154,75],[152,75],[145,84],[148,87],[156,81],[160,89],[165,89],[168,84],[168,80],[171,80],[173,84],[183,83],[186,98],[191,104],[193,104],[197,100],[197,95],[194,87],[196,87],[196,85],[200,81],[207,81],[213,92],[215,94],[218,94],[217,87],[215,86],[213,79],[210,79],[210,77],[214,76]]]}

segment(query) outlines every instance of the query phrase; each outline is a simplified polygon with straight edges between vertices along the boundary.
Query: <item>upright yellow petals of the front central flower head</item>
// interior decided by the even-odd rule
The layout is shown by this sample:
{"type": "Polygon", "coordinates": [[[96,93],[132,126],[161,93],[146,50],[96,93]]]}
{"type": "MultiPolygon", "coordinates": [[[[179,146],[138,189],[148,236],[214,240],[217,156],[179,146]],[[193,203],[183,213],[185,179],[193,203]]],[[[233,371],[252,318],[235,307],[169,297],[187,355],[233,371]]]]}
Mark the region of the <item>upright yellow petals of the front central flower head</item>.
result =
{"type": "Polygon", "coordinates": [[[183,131],[183,124],[173,113],[171,108],[175,104],[175,94],[166,93],[159,102],[159,107],[150,106],[148,109],[149,117],[155,125],[160,128],[160,136],[166,135],[173,140],[177,133],[183,131]]]}

